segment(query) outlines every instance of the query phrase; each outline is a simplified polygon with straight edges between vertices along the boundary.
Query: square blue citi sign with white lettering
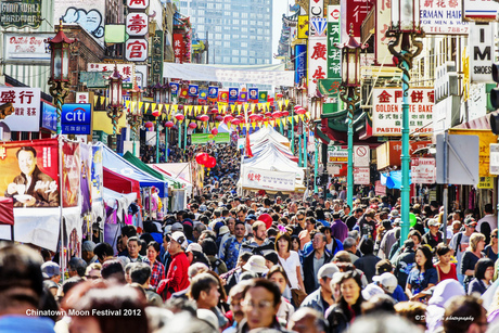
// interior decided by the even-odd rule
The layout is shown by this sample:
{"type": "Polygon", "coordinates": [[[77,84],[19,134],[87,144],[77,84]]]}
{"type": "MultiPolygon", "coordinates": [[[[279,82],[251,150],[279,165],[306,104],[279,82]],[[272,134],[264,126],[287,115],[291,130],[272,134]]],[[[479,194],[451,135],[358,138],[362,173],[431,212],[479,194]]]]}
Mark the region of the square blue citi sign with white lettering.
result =
{"type": "Polygon", "coordinates": [[[64,104],[61,114],[63,135],[91,135],[92,106],[88,103],[64,104]]]}

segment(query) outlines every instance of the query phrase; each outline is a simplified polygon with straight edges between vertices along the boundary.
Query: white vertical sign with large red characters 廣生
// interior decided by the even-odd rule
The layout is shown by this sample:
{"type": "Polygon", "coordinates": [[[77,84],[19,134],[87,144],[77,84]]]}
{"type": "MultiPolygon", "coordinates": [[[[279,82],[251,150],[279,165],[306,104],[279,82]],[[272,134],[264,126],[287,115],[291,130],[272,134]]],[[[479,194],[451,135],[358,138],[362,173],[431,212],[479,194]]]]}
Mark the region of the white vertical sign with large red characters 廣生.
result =
{"type": "Polygon", "coordinates": [[[328,38],[310,38],[308,40],[308,95],[316,94],[319,79],[327,77],[328,38]]]}

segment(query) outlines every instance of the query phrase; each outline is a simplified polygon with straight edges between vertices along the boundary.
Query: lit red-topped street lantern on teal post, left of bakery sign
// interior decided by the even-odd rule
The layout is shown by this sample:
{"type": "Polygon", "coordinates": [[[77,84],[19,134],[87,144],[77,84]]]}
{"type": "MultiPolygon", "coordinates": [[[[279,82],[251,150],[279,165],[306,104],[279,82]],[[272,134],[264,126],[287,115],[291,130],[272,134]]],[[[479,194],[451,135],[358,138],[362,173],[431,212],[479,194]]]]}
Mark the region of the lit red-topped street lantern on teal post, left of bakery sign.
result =
{"type": "Polygon", "coordinates": [[[346,201],[351,207],[354,200],[354,112],[355,104],[360,101],[360,49],[366,48],[354,37],[354,27],[350,26],[348,41],[342,46],[342,85],[340,98],[347,105],[348,111],[348,170],[346,201]]]}

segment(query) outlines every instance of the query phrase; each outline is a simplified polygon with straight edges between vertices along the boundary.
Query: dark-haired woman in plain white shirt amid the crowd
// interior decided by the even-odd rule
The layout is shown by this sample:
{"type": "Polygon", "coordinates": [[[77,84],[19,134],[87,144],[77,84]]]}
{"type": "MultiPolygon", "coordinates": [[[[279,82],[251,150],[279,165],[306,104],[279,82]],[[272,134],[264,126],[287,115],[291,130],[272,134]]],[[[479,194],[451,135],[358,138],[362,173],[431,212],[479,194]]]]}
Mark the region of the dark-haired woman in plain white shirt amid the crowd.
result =
{"type": "Polygon", "coordinates": [[[295,251],[291,251],[291,235],[287,232],[281,232],[276,238],[276,251],[279,255],[279,262],[287,274],[290,287],[305,292],[299,256],[295,251]]]}

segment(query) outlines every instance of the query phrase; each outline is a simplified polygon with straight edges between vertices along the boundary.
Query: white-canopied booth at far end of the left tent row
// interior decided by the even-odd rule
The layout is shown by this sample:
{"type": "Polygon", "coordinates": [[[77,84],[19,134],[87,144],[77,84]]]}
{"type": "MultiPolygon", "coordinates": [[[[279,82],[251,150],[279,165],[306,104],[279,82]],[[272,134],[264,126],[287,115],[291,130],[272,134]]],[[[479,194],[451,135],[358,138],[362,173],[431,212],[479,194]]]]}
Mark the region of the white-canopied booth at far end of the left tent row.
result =
{"type": "Polygon", "coordinates": [[[171,210],[181,210],[187,206],[192,196],[191,163],[161,163],[152,164],[152,167],[162,174],[175,179],[181,184],[181,189],[172,190],[171,210]]]}

